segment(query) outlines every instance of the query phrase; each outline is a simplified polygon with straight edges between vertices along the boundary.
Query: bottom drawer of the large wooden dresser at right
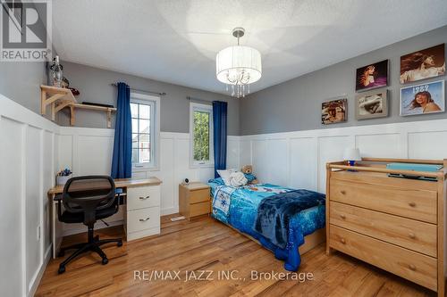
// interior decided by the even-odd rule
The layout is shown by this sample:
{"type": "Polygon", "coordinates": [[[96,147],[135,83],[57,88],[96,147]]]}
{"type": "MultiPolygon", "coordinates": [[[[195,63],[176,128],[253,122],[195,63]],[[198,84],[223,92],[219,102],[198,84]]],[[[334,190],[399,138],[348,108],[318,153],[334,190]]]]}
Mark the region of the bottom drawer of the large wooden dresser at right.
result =
{"type": "Polygon", "coordinates": [[[436,291],[437,266],[432,257],[331,225],[330,246],[418,285],[436,291]]]}

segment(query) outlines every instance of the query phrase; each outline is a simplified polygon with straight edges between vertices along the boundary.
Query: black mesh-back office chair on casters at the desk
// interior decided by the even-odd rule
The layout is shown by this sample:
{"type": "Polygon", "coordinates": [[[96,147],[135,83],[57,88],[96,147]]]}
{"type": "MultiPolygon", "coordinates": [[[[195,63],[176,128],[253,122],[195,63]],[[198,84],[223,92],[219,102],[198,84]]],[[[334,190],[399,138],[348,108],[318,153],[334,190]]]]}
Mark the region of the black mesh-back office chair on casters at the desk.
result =
{"type": "Polygon", "coordinates": [[[87,243],[73,244],[60,250],[63,257],[67,250],[77,249],[59,265],[58,273],[65,272],[65,265],[84,252],[97,252],[102,264],[108,263],[107,256],[100,248],[105,243],[117,243],[122,246],[122,239],[99,240],[93,236],[93,227],[97,219],[105,219],[118,211],[119,197],[115,197],[114,179],[107,176],[72,177],[63,187],[62,197],[57,197],[57,215],[63,223],[83,223],[89,228],[87,243]],[[65,211],[62,213],[61,200],[65,211]]]}

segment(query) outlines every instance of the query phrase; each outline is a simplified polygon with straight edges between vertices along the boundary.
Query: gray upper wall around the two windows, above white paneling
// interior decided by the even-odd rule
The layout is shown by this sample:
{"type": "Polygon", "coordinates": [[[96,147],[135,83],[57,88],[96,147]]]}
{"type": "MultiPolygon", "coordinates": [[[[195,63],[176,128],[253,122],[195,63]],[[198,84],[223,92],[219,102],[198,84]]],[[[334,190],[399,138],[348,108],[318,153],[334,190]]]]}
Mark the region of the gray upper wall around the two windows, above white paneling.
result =
{"type": "MultiPolygon", "coordinates": [[[[68,78],[71,87],[80,90],[79,102],[108,103],[116,106],[116,87],[111,83],[122,81],[130,87],[156,92],[164,92],[160,102],[160,129],[163,132],[190,132],[190,101],[187,96],[207,101],[225,101],[228,103],[228,135],[239,133],[239,100],[227,95],[219,95],[190,87],[181,87],[147,78],[139,78],[119,72],[101,70],[72,62],[62,62],[63,76],[68,78]]],[[[148,66],[150,67],[150,66],[148,66]]],[[[67,113],[59,116],[58,123],[69,126],[67,113]]],[[[105,128],[105,113],[79,111],[76,113],[76,125],[79,127],[105,128]]]]}

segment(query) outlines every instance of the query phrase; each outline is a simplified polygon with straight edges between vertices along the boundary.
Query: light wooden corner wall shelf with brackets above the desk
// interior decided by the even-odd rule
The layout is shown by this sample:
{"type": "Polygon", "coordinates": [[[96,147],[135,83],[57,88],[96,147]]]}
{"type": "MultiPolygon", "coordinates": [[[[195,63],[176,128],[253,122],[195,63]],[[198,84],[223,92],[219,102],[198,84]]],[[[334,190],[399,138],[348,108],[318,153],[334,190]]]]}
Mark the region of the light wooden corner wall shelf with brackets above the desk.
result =
{"type": "Polygon", "coordinates": [[[116,112],[114,107],[104,107],[97,105],[87,105],[78,103],[72,91],[63,87],[40,86],[40,104],[42,115],[46,114],[46,106],[51,105],[51,120],[55,120],[55,114],[63,108],[70,108],[70,125],[75,123],[76,109],[89,111],[104,111],[107,115],[107,128],[112,128],[112,112],[116,112]]]}

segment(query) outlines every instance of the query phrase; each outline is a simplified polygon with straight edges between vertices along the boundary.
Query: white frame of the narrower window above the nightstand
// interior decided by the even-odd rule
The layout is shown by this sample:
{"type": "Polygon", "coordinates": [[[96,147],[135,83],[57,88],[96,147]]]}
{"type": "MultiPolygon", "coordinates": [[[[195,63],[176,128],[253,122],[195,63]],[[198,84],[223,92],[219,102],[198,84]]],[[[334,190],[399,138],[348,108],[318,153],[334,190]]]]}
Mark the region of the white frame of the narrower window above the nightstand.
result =
{"type": "Polygon", "coordinates": [[[213,106],[201,103],[190,103],[190,167],[191,168],[211,168],[215,167],[215,145],[213,130],[213,106]],[[194,111],[209,112],[209,160],[194,160],[194,111]]]}

